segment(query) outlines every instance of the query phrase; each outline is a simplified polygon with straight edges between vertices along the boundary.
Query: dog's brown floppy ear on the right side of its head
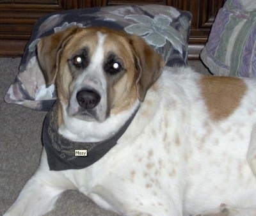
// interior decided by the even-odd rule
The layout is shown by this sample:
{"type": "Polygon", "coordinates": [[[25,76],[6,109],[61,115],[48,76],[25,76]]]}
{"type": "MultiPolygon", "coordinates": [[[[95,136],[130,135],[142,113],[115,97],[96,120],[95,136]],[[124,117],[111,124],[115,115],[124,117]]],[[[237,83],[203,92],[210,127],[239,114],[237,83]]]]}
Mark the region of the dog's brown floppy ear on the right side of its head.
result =
{"type": "Polygon", "coordinates": [[[161,75],[164,68],[164,60],[140,36],[131,35],[130,39],[138,72],[136,80],[137,95],[140,102],[143,102],[147,90],[161,75]]]}

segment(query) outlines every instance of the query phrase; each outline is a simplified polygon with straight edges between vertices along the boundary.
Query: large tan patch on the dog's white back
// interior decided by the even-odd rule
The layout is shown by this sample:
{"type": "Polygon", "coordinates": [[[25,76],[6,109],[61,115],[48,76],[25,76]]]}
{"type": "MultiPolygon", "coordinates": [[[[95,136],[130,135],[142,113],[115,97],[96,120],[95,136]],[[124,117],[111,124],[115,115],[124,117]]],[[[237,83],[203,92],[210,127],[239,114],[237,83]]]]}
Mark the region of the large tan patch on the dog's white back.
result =
{"type": "Polygon", "coordinates": [[[239,106],[247,87],[237,77],[210,77],[200,79],[200,88],[207,110],[213,120],[228,118],[239,106]]]}

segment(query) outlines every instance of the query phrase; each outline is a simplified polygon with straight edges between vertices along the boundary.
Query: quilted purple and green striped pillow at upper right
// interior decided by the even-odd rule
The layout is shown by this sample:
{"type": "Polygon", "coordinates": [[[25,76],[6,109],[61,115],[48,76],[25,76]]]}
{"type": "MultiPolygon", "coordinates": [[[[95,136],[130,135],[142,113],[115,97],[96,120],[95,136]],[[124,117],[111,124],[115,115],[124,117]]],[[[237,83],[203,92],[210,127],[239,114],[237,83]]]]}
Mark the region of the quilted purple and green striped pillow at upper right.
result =
{"type": "Polygon", "coordinates": [[[255,0],[227,0],[200,57],[214,75],[256,77],[255,0]]]}

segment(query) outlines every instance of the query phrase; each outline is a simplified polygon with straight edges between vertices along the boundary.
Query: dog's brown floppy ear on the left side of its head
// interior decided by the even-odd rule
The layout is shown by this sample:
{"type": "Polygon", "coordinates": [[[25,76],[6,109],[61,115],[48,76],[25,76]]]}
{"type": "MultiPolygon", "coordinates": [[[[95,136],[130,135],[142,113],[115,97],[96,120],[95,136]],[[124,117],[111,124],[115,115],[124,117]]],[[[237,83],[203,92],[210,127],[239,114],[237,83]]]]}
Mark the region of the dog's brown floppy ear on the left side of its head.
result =
{"type": "Polygon", "coordinates": [[[61,50],[71,38],[71,36],[79,31],[79,27],[69,27],[65,31],[59,31],[50,36],[46,36],[38,42],[37,56],[47,86],[50,86],[56,78],[58,71],[59,57],[61,50]]]}

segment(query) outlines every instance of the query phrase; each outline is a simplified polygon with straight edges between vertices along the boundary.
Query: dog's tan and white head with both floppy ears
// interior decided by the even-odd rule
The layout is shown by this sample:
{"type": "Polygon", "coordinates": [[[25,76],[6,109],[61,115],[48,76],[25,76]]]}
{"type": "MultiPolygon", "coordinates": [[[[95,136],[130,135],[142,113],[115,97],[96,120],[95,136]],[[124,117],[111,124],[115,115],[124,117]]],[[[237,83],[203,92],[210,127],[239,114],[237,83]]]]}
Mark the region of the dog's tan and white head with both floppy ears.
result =
{"type": "Polygon", "coordinates": [[[56,82],[69,116],[102,122],[143,102],[164,61],[139,36],[102,27],[70,27],[42,38],[38,61],[56,82]]]}

